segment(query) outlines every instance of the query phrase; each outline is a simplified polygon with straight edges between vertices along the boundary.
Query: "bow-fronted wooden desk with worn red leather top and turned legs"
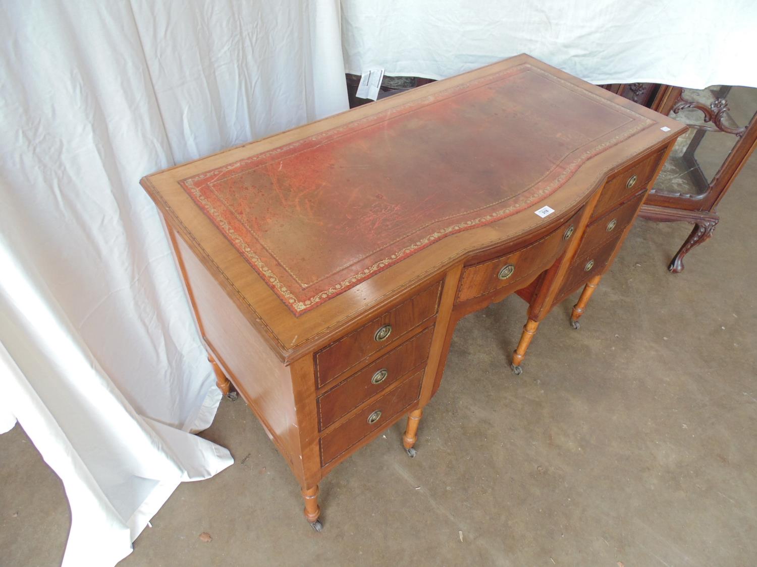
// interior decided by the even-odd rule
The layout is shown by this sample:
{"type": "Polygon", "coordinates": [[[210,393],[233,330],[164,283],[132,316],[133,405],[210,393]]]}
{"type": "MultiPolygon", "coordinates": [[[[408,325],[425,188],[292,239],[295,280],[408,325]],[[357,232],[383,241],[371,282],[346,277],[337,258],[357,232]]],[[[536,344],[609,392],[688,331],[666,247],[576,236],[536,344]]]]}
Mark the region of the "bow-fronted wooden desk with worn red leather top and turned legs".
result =
{"type": "Polygon", "coordinates": [[[142,185],[320,530],[334,466],[403,416],[415,454],[456,321],[524,289],[538,321],[604,271],[683,131],[519,55],[142,185]]]}

